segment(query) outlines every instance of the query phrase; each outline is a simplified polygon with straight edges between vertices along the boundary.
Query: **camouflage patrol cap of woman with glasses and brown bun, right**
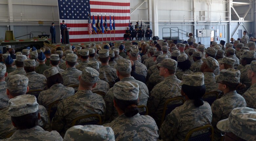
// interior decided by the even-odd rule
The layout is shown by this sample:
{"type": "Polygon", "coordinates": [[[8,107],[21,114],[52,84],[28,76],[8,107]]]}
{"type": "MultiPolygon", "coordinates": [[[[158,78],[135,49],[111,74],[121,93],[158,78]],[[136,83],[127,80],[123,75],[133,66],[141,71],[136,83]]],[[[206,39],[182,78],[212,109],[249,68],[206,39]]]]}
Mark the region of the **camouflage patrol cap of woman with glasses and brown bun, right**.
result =
{"type": "Polygon", "coordinates": [[[217,82],[240,83],[240,71],[232,68],[223,69],[215,79],[217,82]]]}

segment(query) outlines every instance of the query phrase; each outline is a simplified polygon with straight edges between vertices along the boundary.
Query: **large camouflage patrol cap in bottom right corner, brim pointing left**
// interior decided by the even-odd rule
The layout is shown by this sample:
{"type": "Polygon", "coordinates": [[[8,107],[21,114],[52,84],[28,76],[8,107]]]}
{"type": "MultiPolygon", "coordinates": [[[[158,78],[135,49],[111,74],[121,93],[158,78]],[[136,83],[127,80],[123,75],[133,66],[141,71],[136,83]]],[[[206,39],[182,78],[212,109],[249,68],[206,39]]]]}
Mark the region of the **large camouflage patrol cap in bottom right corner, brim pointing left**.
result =
{"type": "Polygon", "coordinates": [[[223,132],[232,132],[247,141],[256,140],[256,110],[248,107],[235,108],[228,118],[217,123],[217,128],[223,132]]]}

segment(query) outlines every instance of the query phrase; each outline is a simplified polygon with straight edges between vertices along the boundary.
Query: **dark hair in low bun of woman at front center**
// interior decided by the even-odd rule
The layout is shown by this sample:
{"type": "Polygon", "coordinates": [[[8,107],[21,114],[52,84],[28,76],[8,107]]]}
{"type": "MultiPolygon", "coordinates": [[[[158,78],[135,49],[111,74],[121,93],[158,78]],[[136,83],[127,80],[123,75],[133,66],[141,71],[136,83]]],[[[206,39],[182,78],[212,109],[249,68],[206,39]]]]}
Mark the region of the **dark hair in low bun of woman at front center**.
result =
{"type": "Polygon", "coordinates": [[[114,98],[117,106],[124,111],[124,115],[127,117],[132,117],[139,113],[138,99],[137,100],[120,100],[116,97],[114,98]]]}

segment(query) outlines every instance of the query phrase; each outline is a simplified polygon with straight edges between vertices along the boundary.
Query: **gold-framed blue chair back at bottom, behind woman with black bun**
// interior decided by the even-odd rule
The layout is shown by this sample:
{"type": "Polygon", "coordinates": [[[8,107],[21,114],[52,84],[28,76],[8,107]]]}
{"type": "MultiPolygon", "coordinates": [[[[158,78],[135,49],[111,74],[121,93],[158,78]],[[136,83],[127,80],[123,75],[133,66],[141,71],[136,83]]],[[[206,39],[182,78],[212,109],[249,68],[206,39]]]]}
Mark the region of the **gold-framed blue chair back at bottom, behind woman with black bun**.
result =
{"type": "Polygon", "coordinates": [[[198,128],[195,128],[195,129],[189,131],[186,135],[185,141],[213,141],[213,136],[214,136],[213,132],[214,132],[213,127],[211,125],[207,124],[207,125],[204,125],[203,127],[198,127],[198,128]],[[208,129],[208,130],[210,129],[210,131],[191,137],[193,132],[205,130],[205,129],[208,129]]]}

